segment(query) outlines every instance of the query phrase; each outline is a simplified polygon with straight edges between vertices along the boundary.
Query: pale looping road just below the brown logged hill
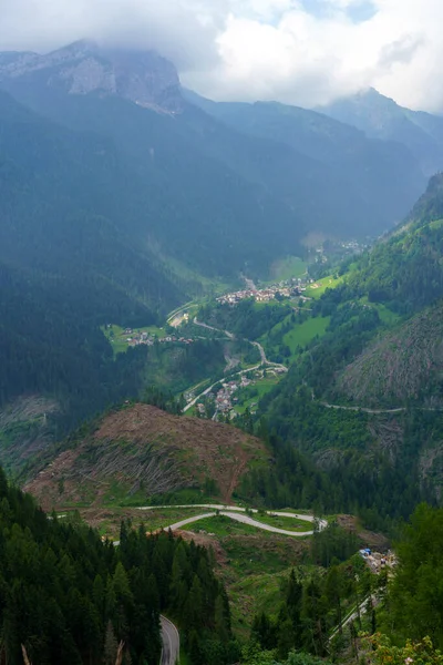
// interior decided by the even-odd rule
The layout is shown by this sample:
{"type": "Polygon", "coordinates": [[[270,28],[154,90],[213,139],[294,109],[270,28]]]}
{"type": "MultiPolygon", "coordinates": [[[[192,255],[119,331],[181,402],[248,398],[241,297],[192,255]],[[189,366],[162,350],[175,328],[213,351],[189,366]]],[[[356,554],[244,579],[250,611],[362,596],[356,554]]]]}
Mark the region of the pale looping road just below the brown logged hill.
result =
{"type": "MultiPolygon", "coordinates": [[[[177,508],[189,508],[189,505],[163,505],[163,507],[162,505],[146,505],[146,507],[141,507],[137,510],[156,510],[159,508],[177,509],[177,508]]],[[[171,529],[171,531],[175,531],[176,529],[183,529],[183,526],[186,526],[187,524],[193,524],[194,522],[198,522],[199,520],[205,520],[206,518],[213,518],[214,511],[218,511],[219,515],[225,515],[225,516],[229,518],[230,520],[235,520],[236,522],[241,522],[243,524],[248,524],[249,526],[255,526],[256,529],[261,529],[262,531],[270,531],[271,533],[290,535],[292,538],[302,538],[306,535],[312,535],[312,533],[313,533],[313,529],[310,529],[309,531],[289,531],[287,529],[279,529],[278,526],[272,526],[271,524],[265,524],[264,522],[259,522],[258,520],[255,520],[249,514],[245,514],[246,508],[239,508],[237,505],[220,505],[220,504],[213,504],[213,503],[200,503],[200,504],[194,504],[193,508],[206,508],[206,509],[212,510],[213,512],[205,512],[205,513],[202,513],[200,515],[185,518],[184,520],[181,520],[179,522],[175,522],[174,524],[164,526],[164,530],[168,531],[171,529]]],[[[258,510],[255,509],[250,512],[258,513],[258,510]]],[[[305,522],[310,522],[311,524],[318,523],[318,528],[320,531],[328,525],[328,522],[326,520],[317,521],[317,518],[313,518],[312,515],[305,515],[305,514],[281,512],[281,511],[272,511],[271,513],[267,512],[266,514],[277,515],[280,518],[292,518],[296,520],[302,520],[305,522]]]]}

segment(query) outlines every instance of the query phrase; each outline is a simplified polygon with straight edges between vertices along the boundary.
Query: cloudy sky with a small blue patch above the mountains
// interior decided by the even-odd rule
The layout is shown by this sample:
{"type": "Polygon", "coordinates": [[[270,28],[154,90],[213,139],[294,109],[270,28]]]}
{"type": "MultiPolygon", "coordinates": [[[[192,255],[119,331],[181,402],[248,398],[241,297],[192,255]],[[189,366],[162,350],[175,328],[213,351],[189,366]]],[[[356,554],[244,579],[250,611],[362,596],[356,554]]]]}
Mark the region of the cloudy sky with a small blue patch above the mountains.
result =
{"type": "Polygon", "coordinates": [[[0,0],[0,49],[154,48],[215,99],[315,106],[369,86],[443,110],[441,0],[0,0]]]}

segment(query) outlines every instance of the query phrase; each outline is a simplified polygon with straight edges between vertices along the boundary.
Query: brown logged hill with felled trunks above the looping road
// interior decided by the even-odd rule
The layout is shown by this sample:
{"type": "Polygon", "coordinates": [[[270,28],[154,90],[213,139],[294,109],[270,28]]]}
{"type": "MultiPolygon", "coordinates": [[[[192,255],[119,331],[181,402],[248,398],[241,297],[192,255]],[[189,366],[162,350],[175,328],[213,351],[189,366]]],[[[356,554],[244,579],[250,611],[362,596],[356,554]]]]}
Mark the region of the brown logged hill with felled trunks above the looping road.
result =
{"type": "Polygon", "coordinates": [[[47,509],[131,498],[143,504],[186,488],[229,502],[249,467],[267,460],[264,443],[238,429],[148,405],[112,412],[91,434],[45,456],[49,466],[25,488],[47,509]]]}

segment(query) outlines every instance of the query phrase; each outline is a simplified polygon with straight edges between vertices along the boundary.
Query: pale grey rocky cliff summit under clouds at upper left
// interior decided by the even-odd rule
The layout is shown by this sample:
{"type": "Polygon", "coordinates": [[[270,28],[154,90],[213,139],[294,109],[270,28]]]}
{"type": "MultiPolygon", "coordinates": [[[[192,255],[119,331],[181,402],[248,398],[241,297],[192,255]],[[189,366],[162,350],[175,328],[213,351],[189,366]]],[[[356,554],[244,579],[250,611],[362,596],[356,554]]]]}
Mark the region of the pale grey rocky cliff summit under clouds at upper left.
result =
{"type": "Polygon", "coordinates": [[[0,81],[35,75],[70,94],[119,95],[158,112],[179,113],[184,104],[175,66],[154,51],[80,41],[47,55],[0,53],[0,81]]]}

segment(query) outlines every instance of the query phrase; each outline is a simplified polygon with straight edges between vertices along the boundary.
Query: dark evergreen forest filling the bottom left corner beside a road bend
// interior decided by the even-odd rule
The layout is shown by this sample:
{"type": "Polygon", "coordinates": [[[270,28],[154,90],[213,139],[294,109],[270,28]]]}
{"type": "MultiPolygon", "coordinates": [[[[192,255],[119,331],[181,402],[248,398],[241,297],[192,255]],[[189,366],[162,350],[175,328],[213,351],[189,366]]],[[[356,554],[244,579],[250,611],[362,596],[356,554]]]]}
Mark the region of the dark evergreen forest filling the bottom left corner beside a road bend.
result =
{"type": "MultiPolygon", "coordinates": [[[[229,606],[207,550],[123,523],[120,546],[75,518],[48,518],[0,472],[0,659],[157,665],[159,613],[193,664],[233,662],[229,606]]],[[[233,651],[234,649],[234,651],[233,651]]]]}

